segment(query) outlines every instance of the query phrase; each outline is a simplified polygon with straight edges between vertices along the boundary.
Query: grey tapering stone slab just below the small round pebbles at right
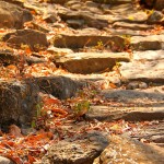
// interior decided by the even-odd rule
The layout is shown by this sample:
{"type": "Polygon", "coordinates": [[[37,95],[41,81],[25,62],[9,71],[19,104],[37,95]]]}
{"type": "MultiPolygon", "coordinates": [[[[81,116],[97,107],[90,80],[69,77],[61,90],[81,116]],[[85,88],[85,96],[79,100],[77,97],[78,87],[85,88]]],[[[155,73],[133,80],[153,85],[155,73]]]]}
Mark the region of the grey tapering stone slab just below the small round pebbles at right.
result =
{"type": "Polygon", "coordinates": [[[124,106],[133,104],[138,107],[156,107],[164,103],[163,85],[137,90],[104,90],[102,93],[106,98],[125,103],[124,106]]]}

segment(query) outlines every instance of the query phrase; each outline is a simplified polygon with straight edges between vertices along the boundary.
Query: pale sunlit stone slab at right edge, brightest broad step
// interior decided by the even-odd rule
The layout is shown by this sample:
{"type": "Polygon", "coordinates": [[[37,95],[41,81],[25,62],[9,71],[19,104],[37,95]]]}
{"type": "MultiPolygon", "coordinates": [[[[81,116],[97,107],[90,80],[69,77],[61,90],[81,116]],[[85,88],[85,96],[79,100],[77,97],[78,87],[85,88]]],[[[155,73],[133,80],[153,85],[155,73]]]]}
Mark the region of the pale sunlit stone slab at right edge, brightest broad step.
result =
{"type": "MultiPolygon", "coordinates": [[[[148,54],[149,56],[149,54],[148,54]]],[[[164,59],[153,61],[121,62],[119,68],[122,81],[141,80],[147,82],[164,82],[164,59]]]]}

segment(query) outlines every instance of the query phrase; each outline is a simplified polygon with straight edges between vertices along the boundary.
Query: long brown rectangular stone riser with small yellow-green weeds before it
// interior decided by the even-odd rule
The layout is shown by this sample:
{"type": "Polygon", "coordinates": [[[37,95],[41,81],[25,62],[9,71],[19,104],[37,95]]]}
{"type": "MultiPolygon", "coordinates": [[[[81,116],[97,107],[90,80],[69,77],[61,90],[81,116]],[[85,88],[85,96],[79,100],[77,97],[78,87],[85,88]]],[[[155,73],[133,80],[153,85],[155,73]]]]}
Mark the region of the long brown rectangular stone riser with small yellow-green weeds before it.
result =
{"type": "Polygon", "coordinates": [[[125,47],[125,38],[121,36],[106,36],[98,34],[61,34],[54,38],[54,46],[61,48],[83,48],[91,46],[105,45],[110,47],[110,49],[116,48],[116,50],[122,49],[125,47]]]}

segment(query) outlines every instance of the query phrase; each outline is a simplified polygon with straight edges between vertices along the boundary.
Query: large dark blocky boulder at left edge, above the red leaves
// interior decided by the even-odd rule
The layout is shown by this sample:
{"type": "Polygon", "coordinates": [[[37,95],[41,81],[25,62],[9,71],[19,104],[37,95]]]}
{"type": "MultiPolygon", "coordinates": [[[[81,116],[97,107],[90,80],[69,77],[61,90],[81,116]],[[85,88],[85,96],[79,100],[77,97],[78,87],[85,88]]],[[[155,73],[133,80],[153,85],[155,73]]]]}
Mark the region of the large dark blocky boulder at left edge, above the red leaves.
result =
{"type": "Polygon", "coordinates": [[[32,81],[0,80],[0,124],[30,125],[39,102],[37,92],[32,81]]]}

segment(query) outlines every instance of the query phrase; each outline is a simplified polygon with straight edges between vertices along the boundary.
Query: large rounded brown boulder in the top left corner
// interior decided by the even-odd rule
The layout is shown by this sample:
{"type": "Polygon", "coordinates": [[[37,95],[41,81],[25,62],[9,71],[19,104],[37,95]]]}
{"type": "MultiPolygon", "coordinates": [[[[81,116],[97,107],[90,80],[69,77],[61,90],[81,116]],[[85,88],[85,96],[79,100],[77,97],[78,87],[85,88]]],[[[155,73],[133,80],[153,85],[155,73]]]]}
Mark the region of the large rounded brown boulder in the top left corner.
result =
{"type": "Polygon", "coordinates": [[[15,4],[0,1],[0,27],[22,28],[24,22],[32,21],[30,11],[15,4]]]}

